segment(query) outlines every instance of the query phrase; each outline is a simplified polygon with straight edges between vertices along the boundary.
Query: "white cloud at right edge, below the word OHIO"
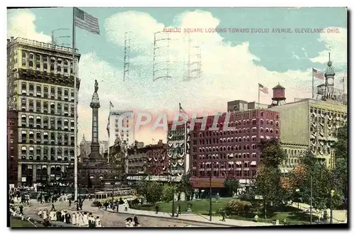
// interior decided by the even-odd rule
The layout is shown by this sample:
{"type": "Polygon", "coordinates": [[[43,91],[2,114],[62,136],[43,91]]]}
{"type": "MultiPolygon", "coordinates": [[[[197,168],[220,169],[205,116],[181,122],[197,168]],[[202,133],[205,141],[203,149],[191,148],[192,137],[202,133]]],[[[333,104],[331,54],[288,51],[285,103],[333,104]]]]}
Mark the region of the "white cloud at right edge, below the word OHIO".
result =
{"type": "Polygon", "coordinates": [[[320,34],[318,40],[324,42],[326,50],[319,52],[319,56],[311,58],[312,62],[328,62],[329,52],[331,52],[331,61],[334,65],[341,67],[347,64],[348,45],[346,28],[325,28],[324,33],[320,34]],[[333,33],[329,33],[329,30],[333,30],[333,33]]]}

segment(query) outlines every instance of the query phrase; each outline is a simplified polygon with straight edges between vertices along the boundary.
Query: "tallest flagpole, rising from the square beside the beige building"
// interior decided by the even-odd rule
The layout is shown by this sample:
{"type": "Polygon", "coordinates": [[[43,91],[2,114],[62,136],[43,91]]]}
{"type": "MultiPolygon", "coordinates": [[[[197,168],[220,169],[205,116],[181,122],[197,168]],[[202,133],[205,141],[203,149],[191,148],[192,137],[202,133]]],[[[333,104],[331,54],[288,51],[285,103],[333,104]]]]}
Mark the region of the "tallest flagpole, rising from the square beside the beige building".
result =
{"type": "Polygon", "coordinates": [[[76,61],[75,61],[75,8],[72,8],[72,72],[74,75],[74,201],[77,201],[77,89],[76,89],[76,61]]]}

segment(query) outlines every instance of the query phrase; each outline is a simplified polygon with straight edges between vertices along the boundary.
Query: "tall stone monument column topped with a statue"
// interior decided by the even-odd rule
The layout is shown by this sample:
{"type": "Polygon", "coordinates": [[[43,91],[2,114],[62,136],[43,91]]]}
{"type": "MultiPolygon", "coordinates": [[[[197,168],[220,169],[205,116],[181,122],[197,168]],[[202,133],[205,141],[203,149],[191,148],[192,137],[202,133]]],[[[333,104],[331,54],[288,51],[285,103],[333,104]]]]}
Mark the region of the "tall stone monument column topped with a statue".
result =
{"type": "Polygon", "coordinates": [[[98,82],[95,80],[95,91],[92,95],[90,107],[92,108],[92,141],[90,161],[101,160],[100,144],[98,143],[98,108],[100,108],[100,99],[98,98],[98,82]]]}

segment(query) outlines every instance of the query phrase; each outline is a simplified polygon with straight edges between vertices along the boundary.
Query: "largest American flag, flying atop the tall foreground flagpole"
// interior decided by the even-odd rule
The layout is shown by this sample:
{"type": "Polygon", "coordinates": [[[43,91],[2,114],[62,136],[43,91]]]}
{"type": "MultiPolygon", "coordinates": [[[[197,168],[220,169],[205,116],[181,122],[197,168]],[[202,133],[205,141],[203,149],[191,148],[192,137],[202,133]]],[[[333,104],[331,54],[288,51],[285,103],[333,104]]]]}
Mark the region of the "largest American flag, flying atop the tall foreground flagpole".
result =
{"type": "Polygon", "coordinates": [[[91,16],[89,13],[82,11],[75,7],[75,26],[88,30],[90,33],[100,34],[100,27],[98,26],[98,19],[91,16]]]}

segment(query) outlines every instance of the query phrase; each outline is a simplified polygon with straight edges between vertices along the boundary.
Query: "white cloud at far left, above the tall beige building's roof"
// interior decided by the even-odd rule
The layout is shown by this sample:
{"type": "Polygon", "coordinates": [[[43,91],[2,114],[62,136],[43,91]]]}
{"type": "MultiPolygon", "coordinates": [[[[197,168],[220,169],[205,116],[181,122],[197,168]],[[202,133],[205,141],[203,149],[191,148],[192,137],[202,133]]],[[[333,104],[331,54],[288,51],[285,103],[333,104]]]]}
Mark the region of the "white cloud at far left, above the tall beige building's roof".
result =
{"type": "Polygon", "coordinates": [[[7,38],[28,38],[44,43],[50,43],[50,36],[38,33],[35,28],[35,15],[27,9],[8,10],[7,38]]]}

